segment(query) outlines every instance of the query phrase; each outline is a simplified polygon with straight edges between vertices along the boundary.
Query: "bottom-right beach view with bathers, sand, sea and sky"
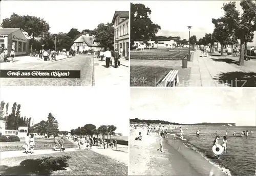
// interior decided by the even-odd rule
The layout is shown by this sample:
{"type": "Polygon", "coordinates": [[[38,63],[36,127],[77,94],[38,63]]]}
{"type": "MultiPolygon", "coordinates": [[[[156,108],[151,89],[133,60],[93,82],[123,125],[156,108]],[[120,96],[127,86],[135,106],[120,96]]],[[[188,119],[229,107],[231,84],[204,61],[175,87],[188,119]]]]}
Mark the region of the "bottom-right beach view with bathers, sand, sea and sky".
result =
{"type": "Polygon", "coordinates": [[[255,175],[255,95],[131,88],[129,175],[255,175]]]}

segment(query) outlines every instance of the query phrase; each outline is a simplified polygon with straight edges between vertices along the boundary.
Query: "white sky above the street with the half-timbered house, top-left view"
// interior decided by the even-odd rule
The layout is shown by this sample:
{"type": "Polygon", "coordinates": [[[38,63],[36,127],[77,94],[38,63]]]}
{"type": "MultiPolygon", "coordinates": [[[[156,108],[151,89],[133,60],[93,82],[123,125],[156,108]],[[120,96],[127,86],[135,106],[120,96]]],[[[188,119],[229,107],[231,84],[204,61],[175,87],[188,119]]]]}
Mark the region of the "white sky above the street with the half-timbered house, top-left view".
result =
{"type": "Polygon", "coordinates": [[[51,33],[93,30],[100,23],[112,22],[115,11],[130,11],[129,1],[1,1],[1,17],[12,13],[44,18],[51,33]]]}

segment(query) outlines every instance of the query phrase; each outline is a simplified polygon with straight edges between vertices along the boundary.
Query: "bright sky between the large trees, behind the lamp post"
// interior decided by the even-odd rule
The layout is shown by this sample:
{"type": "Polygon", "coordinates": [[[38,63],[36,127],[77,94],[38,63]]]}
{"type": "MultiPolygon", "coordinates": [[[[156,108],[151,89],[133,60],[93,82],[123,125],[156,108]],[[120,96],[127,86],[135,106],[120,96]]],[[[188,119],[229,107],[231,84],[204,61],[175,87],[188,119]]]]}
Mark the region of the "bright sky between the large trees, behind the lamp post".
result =
{"type": "MultiPolygon", "coordinates": [[[[157,1],[157,4],[156,1],[133,1],[152,10],[151,20],[161,27],[158,36],[180,36],[181,39],[188,39],[187,26],[192,26],[190,36],[196,35],[197,39],[212,33],[211,18],[224,15],[221,8],[226,2],[230,1],[157,1]]],[[[240,7],[239,1],[237,7],[240,7]]],[[[248,43],[251,44],[256,45],[255,37],[254,42],[248,43]]]]}

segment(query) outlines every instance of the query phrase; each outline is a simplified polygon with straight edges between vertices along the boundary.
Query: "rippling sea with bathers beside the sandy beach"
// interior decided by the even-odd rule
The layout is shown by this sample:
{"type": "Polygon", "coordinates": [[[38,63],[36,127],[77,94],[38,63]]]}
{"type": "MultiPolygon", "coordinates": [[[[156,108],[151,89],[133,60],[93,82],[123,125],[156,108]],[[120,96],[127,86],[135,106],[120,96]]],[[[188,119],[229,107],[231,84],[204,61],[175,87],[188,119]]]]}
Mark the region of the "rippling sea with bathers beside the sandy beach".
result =
{"type": "Polygon", "coordinates": [[[229,170],[231,175],[256,175],[256,127],[198,126],[182,127],[182,129],[183,137],[187,139],[184,145],[200,153],[214,165],[229,170]],[[201,130],[199,137],[196,136],[197,130],[201,130]],[[246,130],[249,133],[252,131],[252,134],[249,137],[240,137],[241,132],[246,130]],[[216,131],[220,136],[219,143],[222,142],[223,136],[226,136],[228,141],[227,153],[221,155],[220,160],[215,159],[211,150],[216,131]],[[226,131],[227,135],[225,135],[226,131]],[[234,131],[236,136],[233,136],[234,131]]]}

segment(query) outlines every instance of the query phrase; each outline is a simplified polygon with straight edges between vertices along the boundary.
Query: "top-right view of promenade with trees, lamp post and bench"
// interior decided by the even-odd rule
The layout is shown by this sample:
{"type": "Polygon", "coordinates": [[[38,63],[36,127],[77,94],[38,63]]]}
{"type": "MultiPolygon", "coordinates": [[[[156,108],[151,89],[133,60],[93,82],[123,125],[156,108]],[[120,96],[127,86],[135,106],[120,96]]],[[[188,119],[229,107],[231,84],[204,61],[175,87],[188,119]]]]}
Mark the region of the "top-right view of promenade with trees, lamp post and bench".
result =
{"type": "Polygon", "coordinates": [[[255,87],[255,3],[131,3],[130,85],[255,87]]]}

